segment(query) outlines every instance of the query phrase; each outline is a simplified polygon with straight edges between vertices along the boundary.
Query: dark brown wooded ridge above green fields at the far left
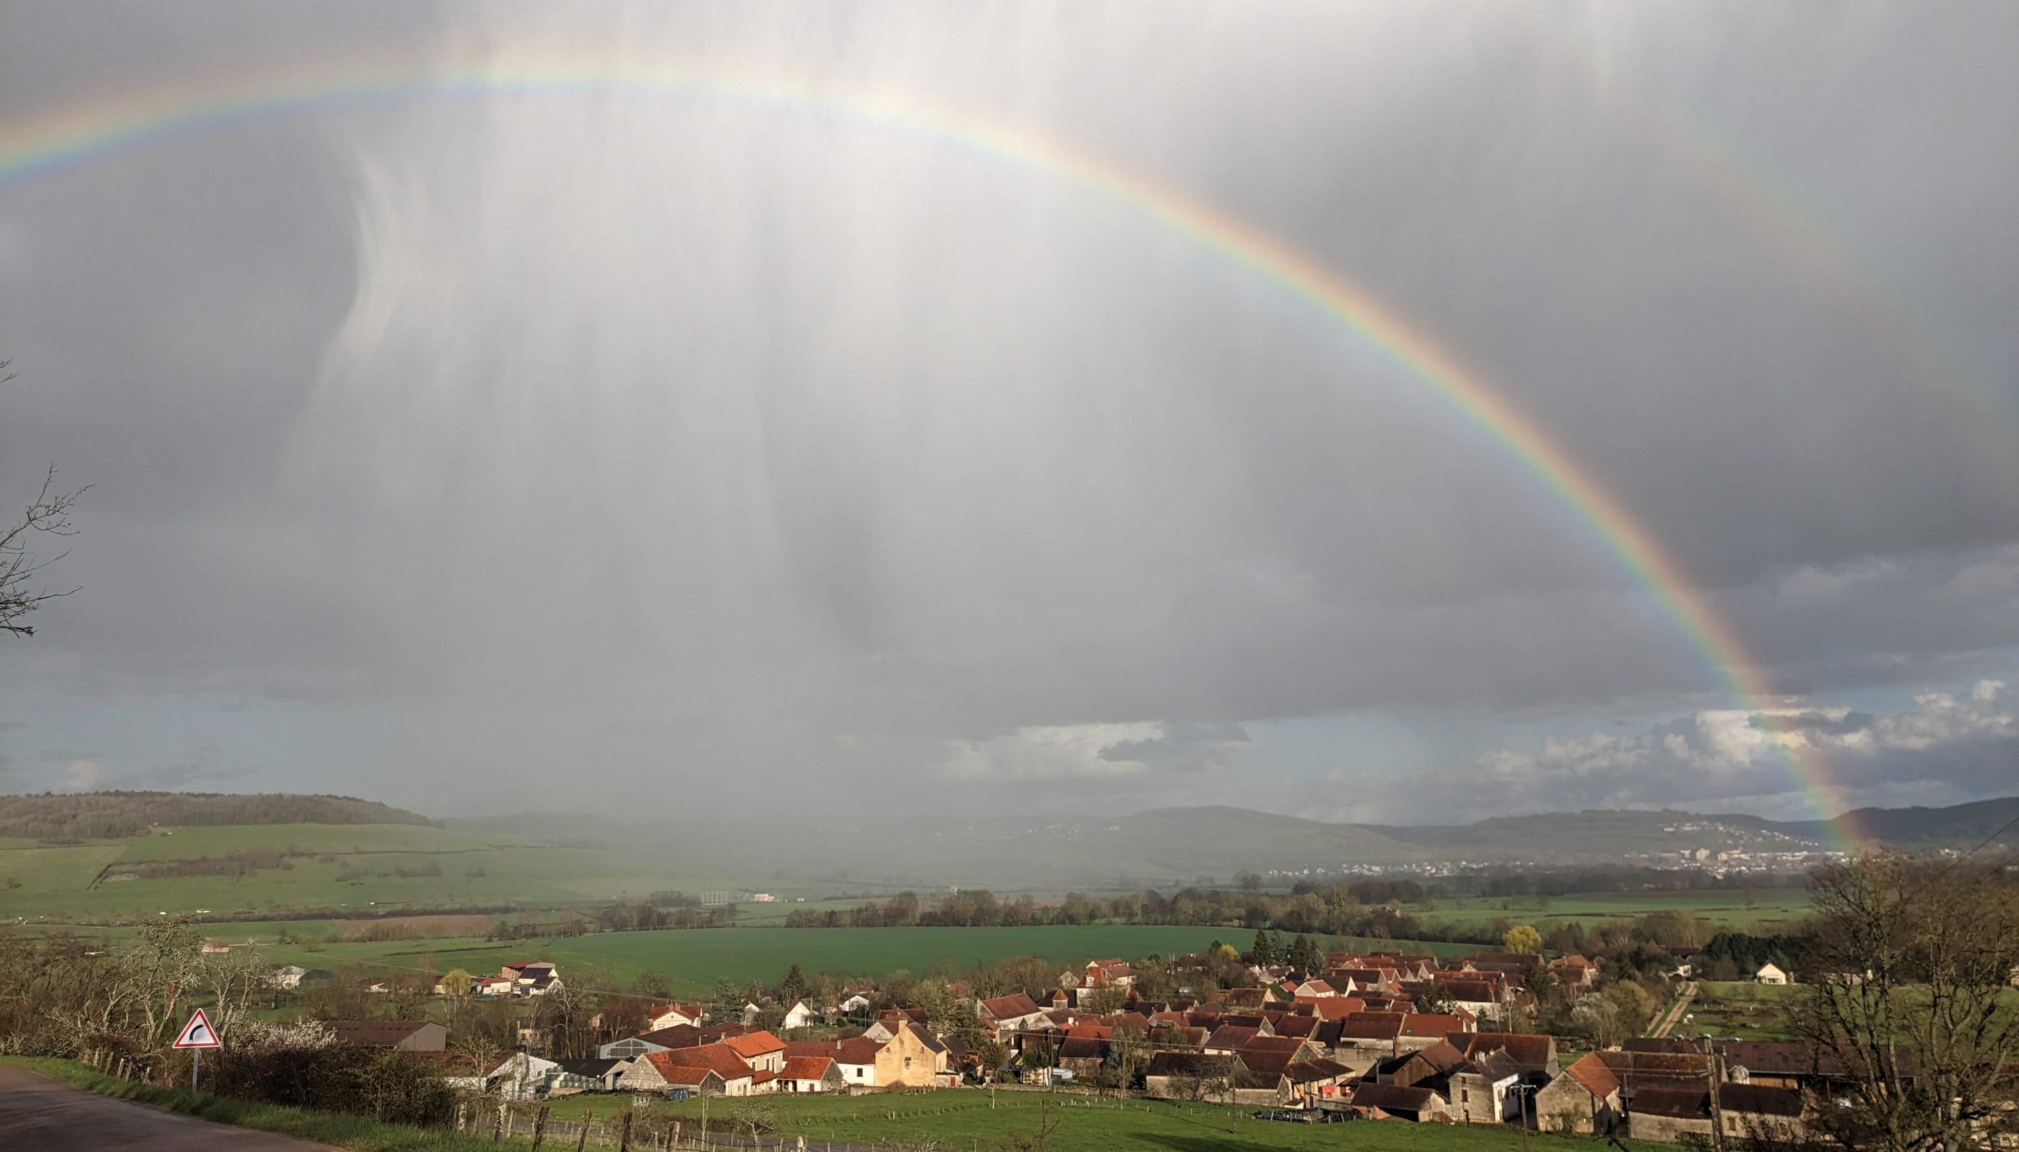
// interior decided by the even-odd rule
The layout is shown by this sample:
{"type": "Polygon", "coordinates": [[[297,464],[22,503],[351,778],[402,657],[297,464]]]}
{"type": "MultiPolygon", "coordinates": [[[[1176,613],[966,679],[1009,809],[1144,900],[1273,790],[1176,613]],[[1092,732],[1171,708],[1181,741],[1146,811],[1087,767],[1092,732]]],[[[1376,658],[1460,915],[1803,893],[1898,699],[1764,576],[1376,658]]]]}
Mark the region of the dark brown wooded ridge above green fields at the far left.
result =
{"type": "Polygon", "coordinates": [[[42,793],[0,797],[0,835],[28,839],[117,839],[149,827],[264,823],[440,823],[357,797],[291,793],[42,793]]]}

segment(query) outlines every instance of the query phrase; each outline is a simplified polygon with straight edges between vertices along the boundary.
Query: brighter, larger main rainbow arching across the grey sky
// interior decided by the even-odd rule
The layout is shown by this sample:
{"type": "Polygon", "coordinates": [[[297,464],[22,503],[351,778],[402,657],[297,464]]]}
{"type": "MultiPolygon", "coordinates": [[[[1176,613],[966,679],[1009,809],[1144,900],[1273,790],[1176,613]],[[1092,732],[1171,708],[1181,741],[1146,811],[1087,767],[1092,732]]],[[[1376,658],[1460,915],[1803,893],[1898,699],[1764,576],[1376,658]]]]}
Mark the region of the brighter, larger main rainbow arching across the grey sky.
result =
{"type": "MultiPolygon", "coordinates": [[[[1421,329],[1385,307],[1365,286],[1290,248],[1268,232],[1221,214],[1137,171],[1036,135],[1028,127],[965,111],[937,109],[896,93],[848,93],[795,77],[723,69],[638,67],[579,56],[563,63],[497,59],[468,69],[333,67],[252,81],[204,81],[115,101],[57,109],[0,125],[0,186],[57,171],[141,141],[273,117],[333,111],[380,101],[636,95],[731,103],[798,115],[824,115],[959,147],[995,163],[1068,180],[1082,190],[1201,244],[1226,260],[1274,280],[1308,307],[1355,333],[1413,379],[1431,387],[1452,410],[1496,440],[1563,506],[1573,510],[1599,545],[1645,585],[1664,613],[1706,658],[1740,706],[1767,730],[1795,785],[1825,821],[1845,811],[1829,765],[1799,730],[1783,728],[1785,710],[1746,654],[1738,633],[1712,609],[1682,565],[1597,478],[1526,412],[1440,347],[1421,329]]],[[[1847,845],[1847,839],[1845,843],[1847,845]]]]}

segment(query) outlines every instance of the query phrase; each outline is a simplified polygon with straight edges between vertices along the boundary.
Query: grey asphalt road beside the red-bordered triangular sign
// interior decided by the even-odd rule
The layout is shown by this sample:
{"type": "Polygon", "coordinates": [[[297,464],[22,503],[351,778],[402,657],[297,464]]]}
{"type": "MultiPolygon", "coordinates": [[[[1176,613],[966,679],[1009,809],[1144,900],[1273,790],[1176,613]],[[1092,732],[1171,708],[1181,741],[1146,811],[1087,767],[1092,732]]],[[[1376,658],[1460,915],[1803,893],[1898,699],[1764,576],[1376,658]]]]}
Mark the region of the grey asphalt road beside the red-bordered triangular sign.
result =
{"type": "Polygon", "coordinates": [[[95,1096],[24,1067],[0,1065],[0,1148],[8,1152],[331,1152],[289,1136],[212,1124],[131,1100],[95,1096]]]}

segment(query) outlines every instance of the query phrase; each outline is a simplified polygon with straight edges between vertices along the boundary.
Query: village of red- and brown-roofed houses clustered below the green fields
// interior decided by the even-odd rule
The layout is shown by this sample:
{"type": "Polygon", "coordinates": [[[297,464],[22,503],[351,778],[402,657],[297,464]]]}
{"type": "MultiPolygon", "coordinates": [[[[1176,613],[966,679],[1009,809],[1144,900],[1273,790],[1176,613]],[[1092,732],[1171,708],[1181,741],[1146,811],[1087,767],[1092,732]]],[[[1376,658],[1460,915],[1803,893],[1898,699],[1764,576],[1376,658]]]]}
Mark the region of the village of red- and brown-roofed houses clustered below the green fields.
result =
{"type": "MultiPolygon", "coordinates": [[[[1177,968],[1203,968],[1185,956],[1177,968]]],[[[1601,962],[1569,954],[1478,952],[1438,960],[1403,952],[1324,952],[1306,968],[1240,956],[1242,987],[1203,997],[1139,995],[1135,964],[1088,960],[1046,997],[965,997],[945,1027],[925,1007],[890,1003],[864,981],[832,1003],[652,1003],[634,1035],[594,1057],[547,1051],[535,1029],[485,1061],[426,1019],[325,1021],[333,1043],[402,1049],[434,1061],[458,1091],[499,1102],[575,1093],[753,1098],[987,1087],[1137,1096],[1264,1110],[1284,1120],[1466,1124],[1658,1142],[1795,1138],[1831,1069],[1807,1045],[1625,1037],[1567,1057],[1559,1037],[1512,1031],[1530,983],[1595,989],[1601,962]],[[723,1019],[741,1017],[741,1019],[723,1019]],[[759,1017],[771,1023],[761,1027],[759,1017]],[[941,1023],[941,1027],[935,1027],[941,1023]],[[789,1039],[791,1037],[791,1039],[789,1039]]],[[[1688,974],[1688,964],[1678,970],[1688,974]]],[[[277,985],[299,983],[283,968],[277,985]]],[[[1761,985],[1787,972],[1763,964],[1761,985]]],[[[565,978],[545,960],[495,976],[454,976],[436,995],[549,997],[565,978]]],[[[390,991],[374,983],[374,991],[390,991]]],[[[1654,1033],[1680,1023],[1682,1005],[1654,1033]]]]}

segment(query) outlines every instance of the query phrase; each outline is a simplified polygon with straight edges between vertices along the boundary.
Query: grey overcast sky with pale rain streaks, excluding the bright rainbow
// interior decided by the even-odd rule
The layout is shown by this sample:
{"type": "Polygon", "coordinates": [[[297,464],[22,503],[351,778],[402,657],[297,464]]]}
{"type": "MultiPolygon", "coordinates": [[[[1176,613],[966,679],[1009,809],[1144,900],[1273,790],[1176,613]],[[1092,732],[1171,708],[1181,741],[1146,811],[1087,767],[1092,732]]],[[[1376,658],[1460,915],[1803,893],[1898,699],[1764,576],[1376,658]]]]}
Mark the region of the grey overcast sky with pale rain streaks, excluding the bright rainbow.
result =
{"type": "Polygon", "coordinates": [[[0,155],[0,496],[93,484],[0,789],[1813,815],[1547,484],[1268,274],[917,125],[430,89],[525,61],[1238,218],[1547,428],[1845,803],[2019,791],[2019,6],[1415,0],[6,4],[16,145],[410,83],[0,155]]]}

